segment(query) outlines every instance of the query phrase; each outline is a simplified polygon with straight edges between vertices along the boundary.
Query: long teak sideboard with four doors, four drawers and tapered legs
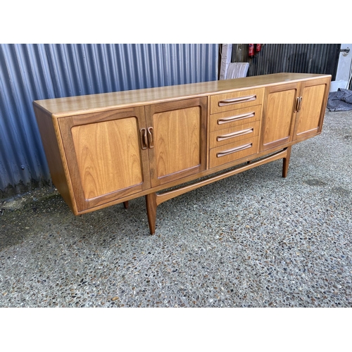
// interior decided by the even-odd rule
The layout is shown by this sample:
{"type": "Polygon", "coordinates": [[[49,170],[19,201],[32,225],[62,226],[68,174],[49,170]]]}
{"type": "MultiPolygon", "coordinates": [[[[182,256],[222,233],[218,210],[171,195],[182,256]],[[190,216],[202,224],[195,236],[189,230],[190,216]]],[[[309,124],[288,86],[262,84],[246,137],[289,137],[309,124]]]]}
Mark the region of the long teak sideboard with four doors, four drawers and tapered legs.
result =
{"type": "Polygon", "coordinates": [[[51,178],[75,215],[163,201],[283,159],[322,131],[330,75],[277,73],[34,101],[51,178]]]}

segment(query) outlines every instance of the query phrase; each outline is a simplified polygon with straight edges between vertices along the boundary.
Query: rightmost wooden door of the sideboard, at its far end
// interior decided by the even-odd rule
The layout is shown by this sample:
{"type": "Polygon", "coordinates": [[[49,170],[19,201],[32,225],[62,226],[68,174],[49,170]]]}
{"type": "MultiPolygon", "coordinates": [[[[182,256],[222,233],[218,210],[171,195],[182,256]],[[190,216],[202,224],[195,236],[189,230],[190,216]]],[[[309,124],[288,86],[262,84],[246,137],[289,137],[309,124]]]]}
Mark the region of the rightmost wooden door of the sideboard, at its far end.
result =
{"type": "Polygon", "coordinates": [[[329,79],[324,78],[301,83],[294,140],[321,132],[329,95],[329,82],[329,79]]]}

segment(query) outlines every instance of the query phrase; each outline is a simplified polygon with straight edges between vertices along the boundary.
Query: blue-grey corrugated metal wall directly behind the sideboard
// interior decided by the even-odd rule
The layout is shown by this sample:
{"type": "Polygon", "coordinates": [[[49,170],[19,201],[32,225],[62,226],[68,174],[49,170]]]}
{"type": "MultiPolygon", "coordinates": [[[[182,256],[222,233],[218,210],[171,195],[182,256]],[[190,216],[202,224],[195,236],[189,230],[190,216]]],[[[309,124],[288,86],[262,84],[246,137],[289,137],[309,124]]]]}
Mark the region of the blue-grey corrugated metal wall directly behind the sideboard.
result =
{"type": "Polygon", "coordinates": [[[218,78],[218,44],[0,44],[0,198],[51,184],[32,101],[218,78]]]}

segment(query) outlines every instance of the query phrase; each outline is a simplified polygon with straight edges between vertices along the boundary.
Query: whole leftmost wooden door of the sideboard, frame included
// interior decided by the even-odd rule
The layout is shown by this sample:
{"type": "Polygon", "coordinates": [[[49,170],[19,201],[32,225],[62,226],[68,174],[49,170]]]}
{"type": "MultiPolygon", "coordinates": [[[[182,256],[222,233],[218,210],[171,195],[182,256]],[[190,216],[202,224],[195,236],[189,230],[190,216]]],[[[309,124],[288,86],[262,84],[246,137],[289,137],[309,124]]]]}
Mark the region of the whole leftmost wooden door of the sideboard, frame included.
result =
{"type": "Polygon", "coordinates": [[[150,187],[144,107],[59,118],[58,124],[78,211],[150,187]]]}

